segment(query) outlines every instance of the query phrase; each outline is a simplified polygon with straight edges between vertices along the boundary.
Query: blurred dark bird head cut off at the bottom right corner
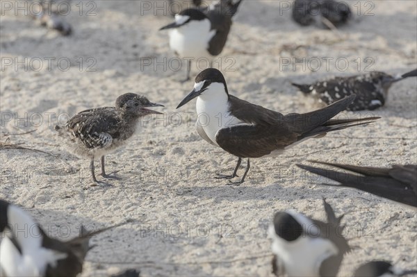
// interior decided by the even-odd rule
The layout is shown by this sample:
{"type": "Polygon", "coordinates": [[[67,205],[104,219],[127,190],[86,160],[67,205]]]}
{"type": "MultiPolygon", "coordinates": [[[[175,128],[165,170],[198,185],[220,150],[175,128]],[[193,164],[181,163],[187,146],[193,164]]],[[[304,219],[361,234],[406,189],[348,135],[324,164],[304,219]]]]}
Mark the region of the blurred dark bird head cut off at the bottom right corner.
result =
{"type": "Polygon", "coordinates": [[[374,260],[361,265],[354,271],[354,277],[399,277],[417,274],[416,270],[402,270],[391,262],[374,260]]]}

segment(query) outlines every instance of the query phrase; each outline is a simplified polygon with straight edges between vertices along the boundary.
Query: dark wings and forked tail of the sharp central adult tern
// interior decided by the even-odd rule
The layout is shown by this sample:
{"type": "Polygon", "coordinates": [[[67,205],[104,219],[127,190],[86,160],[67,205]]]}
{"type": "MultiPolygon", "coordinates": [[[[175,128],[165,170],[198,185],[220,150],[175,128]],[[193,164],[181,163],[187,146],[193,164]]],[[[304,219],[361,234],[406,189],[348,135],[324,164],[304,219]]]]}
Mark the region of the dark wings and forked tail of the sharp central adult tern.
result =
{"type": "Polygon", "coordinates": [[[332,119],[352,103],[354,95],[330,106],[305,114],[282,115],[279,112],[256,106],[229,96],[230,113],[246,124],[222,128],[215,141],[222,149],[240,158],[259,158],[272,151],[327,132],[368,124],[368,119],[332,119]]]}

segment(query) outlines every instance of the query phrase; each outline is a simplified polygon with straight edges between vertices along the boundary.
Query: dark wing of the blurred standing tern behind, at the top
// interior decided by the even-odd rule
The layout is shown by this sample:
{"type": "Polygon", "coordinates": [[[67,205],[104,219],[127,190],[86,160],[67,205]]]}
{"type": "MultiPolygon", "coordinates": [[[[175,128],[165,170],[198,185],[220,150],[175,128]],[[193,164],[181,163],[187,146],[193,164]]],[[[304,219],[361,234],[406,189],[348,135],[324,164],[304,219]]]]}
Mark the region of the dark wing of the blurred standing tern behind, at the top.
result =
{"type": "Polygon", "coordinates": [[[230,32],[230,11],[227,6],[220,2],[213,9],[206,10],[206,17],[211,22],[211,29],[215,30],[215,35],[208,42],[208,53],[213,56],[218,56],[222,53],[230,32]]]}

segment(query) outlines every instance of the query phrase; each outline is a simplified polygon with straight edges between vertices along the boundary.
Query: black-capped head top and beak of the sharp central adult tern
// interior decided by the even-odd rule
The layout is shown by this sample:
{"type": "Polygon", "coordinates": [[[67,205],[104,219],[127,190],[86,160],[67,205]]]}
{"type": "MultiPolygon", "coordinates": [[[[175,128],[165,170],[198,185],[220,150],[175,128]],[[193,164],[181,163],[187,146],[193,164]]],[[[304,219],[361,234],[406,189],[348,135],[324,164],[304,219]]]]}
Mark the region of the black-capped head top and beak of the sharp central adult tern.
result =
{"type": "Polygon", "coordinates": [[[186,98],[183,99],[183,101],[181,101],[181,103],[179,103],[177,108],[184,106],[186,103],[202,94],[205,90],[207,90],[207,87],[211,83],[222,83],[224,85],[224,91],[227,95],[229,95],[226,80],[224,80],[222,72],[215,68],[208,68],[204,69],[197,75],[197,77],[195,77],[194,89],[186,96],[186,98]]]}

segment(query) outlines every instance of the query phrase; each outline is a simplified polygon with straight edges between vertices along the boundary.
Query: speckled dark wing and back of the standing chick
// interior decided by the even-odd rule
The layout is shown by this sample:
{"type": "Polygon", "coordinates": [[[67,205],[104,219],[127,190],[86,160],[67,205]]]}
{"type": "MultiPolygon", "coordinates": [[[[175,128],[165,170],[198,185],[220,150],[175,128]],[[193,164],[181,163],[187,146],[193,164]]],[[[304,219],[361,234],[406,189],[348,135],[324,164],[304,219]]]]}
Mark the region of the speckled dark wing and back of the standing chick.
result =
{"type": "Polygon", "coordinates": [[[66,128],[88,148],[103,148],[120,137],[120,117],[115,108],[83,110],[67,121],[66,128]]]}

